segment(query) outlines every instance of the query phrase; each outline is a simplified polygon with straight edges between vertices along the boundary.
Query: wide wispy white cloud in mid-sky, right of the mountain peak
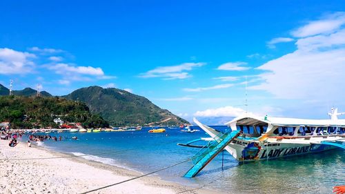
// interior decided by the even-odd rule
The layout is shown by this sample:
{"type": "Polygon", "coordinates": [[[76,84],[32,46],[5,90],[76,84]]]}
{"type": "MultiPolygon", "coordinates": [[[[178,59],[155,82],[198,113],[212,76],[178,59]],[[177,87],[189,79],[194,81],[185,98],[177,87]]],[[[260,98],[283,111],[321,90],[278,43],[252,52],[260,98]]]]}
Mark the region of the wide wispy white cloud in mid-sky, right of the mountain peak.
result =
{"type": "Polygon", "coordinates": [[[184,63],[178,66],[157,67],[148,72],[142,73],[139,77],[163,77],[164,79],[186,79],[190,77],[188,72],[195,67],[204,66],[205,63],[184,63]]]}

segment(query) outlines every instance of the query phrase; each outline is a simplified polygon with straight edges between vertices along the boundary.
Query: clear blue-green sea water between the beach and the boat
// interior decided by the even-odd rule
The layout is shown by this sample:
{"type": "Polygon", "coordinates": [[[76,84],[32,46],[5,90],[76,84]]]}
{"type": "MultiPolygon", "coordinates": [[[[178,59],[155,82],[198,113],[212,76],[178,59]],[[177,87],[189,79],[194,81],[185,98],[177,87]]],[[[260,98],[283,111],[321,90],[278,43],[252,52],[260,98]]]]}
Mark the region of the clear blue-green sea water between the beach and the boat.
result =
{"type": "MultiPolygon", "coordinates": [[[[214,126],[228,130],[226,126],[214,126]]],[[[150,173],[192,157],[199,148],[177,146],[200,137],[204,131],[184,133],[166,128],[166,133],[141,131],[101,133],[50,133],[68,137],[61,142],[47,140],[41,146],[72,153],[97,162],[150,173]],[[77,136],[78,140],[70,139],[77,136]]],[[[225,193],[332,193],[335,185],[345,185],[345,151],[273,159],[239,165],[226,151],[213,159],[194,178],[183,177],[192,167],[186,162],[155,175],[186,186],[205,187],[225,193]],[[223,168],[222,168],[223,164],[223,168]]]]}

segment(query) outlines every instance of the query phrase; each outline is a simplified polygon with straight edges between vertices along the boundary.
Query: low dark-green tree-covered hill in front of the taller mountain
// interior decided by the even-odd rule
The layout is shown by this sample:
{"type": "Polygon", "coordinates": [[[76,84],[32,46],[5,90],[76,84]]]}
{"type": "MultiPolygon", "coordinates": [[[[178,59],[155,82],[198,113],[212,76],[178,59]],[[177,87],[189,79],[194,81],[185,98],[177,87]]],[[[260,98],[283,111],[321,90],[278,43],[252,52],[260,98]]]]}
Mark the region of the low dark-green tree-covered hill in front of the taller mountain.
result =
{"type": "Polygon", "coordinates": [[[61,97],[0,97],[0,121],[10,122],[13,128],[57,127],[53,122],[57,117],[65,122],[79,122],[86,128],[109,126],[80,101],[61,97]]]}

